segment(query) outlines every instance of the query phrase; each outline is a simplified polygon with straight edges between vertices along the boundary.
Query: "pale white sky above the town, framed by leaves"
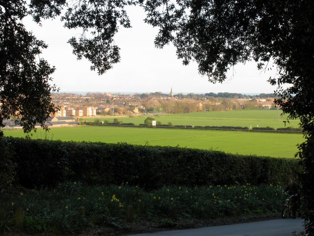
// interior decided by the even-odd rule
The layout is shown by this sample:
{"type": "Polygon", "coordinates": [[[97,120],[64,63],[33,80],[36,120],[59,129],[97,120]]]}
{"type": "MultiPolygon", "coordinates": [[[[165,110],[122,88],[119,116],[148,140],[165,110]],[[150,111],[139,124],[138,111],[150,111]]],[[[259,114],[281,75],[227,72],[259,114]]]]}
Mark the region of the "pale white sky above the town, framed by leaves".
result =
{"type": "Polygon", "coordinates": [[[30,18],[24,19],[26,29],[33,31],[38,39],[48,44],[42,58],[56,67],[52,74],[52,84],[60,88],[59,92],[97,91],[120,93],[207,93],[236,92],[242,94],[273,93],[276,89],[267,83],[276,71],[259,71],[255,62],[238,64],[227,74],[222,84],[212,84],[208,78],[198,73],[197,63],[182,65],[176,57],[173,45],[163,49],[154,46],[157,28],[143,22],[145,13],[138,7],[129,7],[128,15],[131,29],[121,27],[114,38],[120,47],[121,61],[99,76],[90,71],[91,63],[87,59],[77,60],[67,41],[81,31],[64,29],[59,20],[45,20],[40,27],[30,18]]]}

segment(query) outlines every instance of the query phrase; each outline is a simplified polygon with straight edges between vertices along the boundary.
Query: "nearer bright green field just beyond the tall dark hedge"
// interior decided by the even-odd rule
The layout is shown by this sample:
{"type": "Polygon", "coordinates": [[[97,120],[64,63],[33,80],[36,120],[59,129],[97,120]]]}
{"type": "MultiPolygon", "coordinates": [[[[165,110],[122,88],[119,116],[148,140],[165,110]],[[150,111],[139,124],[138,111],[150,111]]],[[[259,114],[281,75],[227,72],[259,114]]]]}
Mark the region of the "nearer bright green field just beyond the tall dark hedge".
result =
{"type": "MultiPolygon", "coordinates": [[[[25,137],[22,130],[4,130],[4,135],[25,137]]],[[[44,139],[45,132],[38,130],[33,135],[33,138],[44,139]]],[[[294,153],[297,152],[296,145],[303,142],[302,134],[103,126],[52,128],[47,138],[61,141],[126,142],[134,145],[148,144],[152,146],[174,147],[179,145],[187,148],[213,149],[230,153],[287,158],[292,158],[294,153]]]]}

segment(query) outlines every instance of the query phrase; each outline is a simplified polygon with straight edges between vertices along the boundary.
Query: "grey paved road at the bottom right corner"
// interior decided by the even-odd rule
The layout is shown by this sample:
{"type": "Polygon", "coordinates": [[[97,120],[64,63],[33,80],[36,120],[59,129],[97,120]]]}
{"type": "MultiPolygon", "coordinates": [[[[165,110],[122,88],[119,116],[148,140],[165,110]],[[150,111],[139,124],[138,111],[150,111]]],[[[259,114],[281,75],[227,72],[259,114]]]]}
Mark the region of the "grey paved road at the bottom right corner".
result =
{"type": "Polygon", "coordinates": [[[276,219],[189,230],[171,230],[131,236],[292,236],[304,231],[301,219],[276,219]]]}

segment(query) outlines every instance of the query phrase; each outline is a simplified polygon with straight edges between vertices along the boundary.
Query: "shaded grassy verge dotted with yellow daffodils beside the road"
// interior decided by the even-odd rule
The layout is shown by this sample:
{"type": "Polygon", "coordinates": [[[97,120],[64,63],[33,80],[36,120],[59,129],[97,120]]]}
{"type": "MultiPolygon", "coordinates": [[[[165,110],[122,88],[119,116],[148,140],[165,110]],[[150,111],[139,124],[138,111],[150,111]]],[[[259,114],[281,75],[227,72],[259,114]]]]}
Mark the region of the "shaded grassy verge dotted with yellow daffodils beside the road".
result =
{"type": "Polygon", "coordinates": [[[285,196],[282,185],[86,186],[3,192],[0,232],[17,234],[123,235],[162,229],[195,228],[278,217],[285,196]],[[128,208],[132,206],[132,217],[128,208]],[[23,227],[16,210],[23,209],[23,227]],[[130,222],[131,221],[131,222],[130,222]]]}

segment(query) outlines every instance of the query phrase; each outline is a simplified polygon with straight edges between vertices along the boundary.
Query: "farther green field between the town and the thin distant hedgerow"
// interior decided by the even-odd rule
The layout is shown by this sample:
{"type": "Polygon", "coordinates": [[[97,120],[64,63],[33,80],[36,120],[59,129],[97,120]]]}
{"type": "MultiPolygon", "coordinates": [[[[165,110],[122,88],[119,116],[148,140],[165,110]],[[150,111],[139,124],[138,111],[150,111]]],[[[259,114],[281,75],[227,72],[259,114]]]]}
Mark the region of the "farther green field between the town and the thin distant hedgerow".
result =
{"type": "MultiPolygon", "coordinates": [[[[287,115],[281,116],[281,110],[240,110],[222,112],[198,112],[185,114],[162,114],[154,116],[162,124],[172,122],[173,125],[200,125],[200,126],[242,126],[242,127],[273,127],[283,128],[287,115]]],[[[117,117],[124,123],[138,125],[144,123],[147,116],[117,117]]],[[[99,121],[113,122],[113,117],[99,117],[99,121]]],[[[95,120],[95,118],[80,118],[80,120],[95,120]]],[[[299,120],[291,120],[287,127],[299,127],[299,120]]]]}

